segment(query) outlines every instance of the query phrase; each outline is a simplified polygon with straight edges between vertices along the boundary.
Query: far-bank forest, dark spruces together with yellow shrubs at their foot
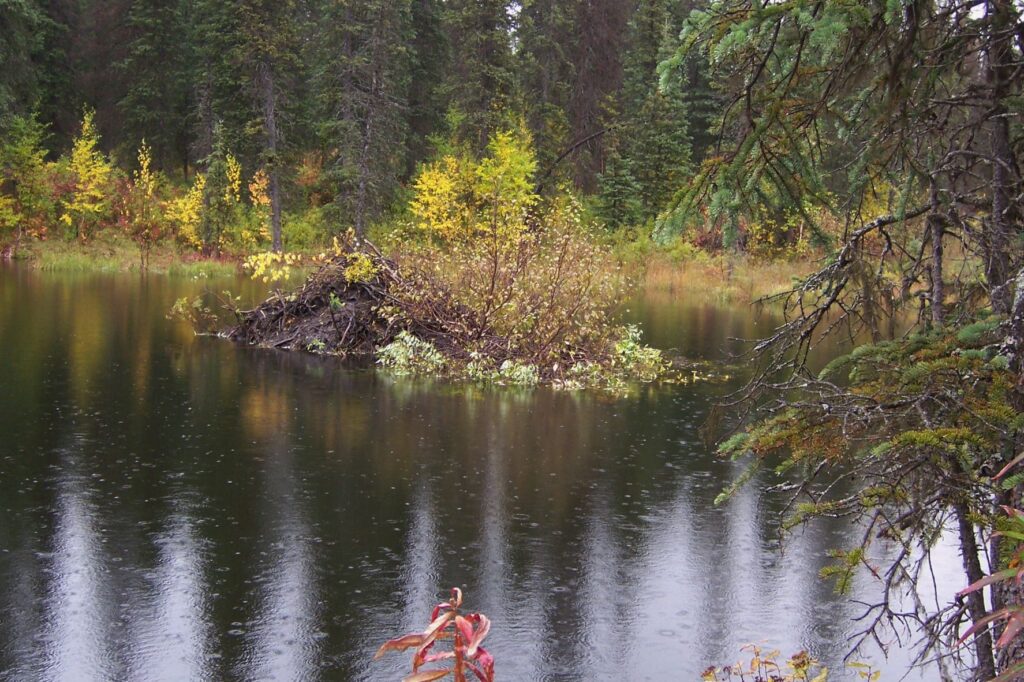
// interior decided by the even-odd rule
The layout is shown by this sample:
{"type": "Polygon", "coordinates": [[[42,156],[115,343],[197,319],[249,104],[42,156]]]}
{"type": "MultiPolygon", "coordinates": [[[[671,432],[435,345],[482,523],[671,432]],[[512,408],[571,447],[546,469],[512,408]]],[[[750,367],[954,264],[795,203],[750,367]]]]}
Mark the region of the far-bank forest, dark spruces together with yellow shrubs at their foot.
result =
{"type": "Polygon", "coordinates": [[[84,238],[161,218],[162,235],[201,250],[308,248],[400,215],[418,168],[445,145],[481,152],[510,129],[528,133],[541,189],[571,186],[607,224],[643,224],[705,155],[718,101],[699,58],[673,69],[673,90],[658,87],[686,3],[3,9],[4,176],[28,185],[25,164],[62,162],[45,188],[12,191],[8,231],[52,229],[70,215],[66,231],[84,238]],[[151,191],[177,203],[142,220],[118,216],[143,148],[145,172],[161,178],[151,191]],[[267,219],[200,216],[226,224],[197,233],[195,202],[229,183],[242,212],[267,219]]]}

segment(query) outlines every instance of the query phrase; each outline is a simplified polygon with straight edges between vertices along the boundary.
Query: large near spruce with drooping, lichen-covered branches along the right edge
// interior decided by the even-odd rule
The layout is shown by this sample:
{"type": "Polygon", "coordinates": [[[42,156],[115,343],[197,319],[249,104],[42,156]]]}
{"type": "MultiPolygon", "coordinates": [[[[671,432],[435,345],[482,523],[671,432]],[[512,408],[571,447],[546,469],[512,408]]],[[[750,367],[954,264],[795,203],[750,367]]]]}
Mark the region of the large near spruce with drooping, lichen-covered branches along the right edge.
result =
{"type": "MultiPolygon", "coordinates": [[[[905,616],[895,604],[927,570],[936,539],[956,539],[964,583],[976,586],[983,560],[1004,568],[1017,545],[993,519],[1024,497],[1024,140],[1011,123],[1024,93],[1021,20],[1011,0],[837,0],[813,11],[717,0],[691,15],[662,68],[671,80],[687,56],[707,55],[733,102],[729,136],[683,185],[679,220],[664,225],[710,217],[735,239],[742,219],[788,211],[830,252],[773,297],[784,322],[753,349],[758,371],[743,392],[760,419],[722,450],[752,456],[744,480],[763,464],[802,472],[785,482],[800,491],[790,502],[815,493],[793,524],[864,524],[828,572],[842,587],[865,557],[887,557],[870,568],[887,578],[862,615],[865,639],[905,616]],[[949,241],[976,270],[945,260],[949,241]],[[883,342],[889,321],[894,338],[883,342]],[[879,343],[818,372],[809,358],[833,335],[879,343]],[[1000,470],[1014,475],[993,484],[1000,470]],[[904,551],[880,553],[880,539],[904,551]]],[[[988,603],[1010,609],[994,615],[981,590],[965,596],[949,595],[938,613],[916,601],[923,657],[955,655],[957,629],[973,622],[970,677],[1016,679],[1020,581],[992,586],[988,603]],[[983,626],[1011,613],[998,646],[983,626]]]]}

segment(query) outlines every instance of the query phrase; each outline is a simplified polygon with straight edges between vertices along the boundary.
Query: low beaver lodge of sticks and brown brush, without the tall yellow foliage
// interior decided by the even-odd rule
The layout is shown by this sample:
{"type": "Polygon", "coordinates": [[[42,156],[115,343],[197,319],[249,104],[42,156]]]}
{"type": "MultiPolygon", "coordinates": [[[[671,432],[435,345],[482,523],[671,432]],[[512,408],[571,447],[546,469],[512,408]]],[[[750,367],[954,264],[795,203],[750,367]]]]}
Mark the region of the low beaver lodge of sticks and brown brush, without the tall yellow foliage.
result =
{"type": "Polygon", "coordinates": [[[586,300],[587,282],[529,276],[525,267],[518,276],[493,271],[481,287],[459,279],[473,294],[466,296],[362,243],[337,250],[298,290],[236,310],[236,326],[222,334],[267,348],[371,357],[406,374],[504,383],[649,381],[666,369],[636,328],[611,322],[613,301],[586,300]],[[538,282],[536,290],[527,284],[538,282]]]}

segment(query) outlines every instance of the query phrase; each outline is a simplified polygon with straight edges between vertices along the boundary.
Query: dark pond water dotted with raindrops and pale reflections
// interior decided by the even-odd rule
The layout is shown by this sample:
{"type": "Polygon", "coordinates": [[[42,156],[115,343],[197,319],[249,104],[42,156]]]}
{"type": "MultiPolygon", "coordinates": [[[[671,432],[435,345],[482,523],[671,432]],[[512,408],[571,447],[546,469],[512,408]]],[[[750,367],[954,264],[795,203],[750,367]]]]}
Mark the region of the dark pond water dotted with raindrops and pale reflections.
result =
{"type": "MultiPolygon", "coordinates": [[[[758,481],[713,507],[728,387],[396,380],[165,319],[207,286],[0,269],[0,679],[397,679],[376,647],[454,585],[504,680],[696,679],[755,641],[842,666],[859,608],[817,572],[856,531],[783,553],[758,481]]],[[[703,357],[771,322],[629,314],[703,357]]]]}

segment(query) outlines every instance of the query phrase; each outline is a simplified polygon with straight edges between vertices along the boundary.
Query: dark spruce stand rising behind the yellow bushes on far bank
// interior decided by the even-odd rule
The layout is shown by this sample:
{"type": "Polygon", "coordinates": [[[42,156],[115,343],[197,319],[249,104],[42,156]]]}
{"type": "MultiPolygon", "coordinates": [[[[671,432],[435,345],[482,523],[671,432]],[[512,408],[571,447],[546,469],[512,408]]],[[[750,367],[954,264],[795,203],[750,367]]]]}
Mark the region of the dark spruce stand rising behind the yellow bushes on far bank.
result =
{"type": "Polygon", "coordinates": [[[710,89],[653,85],[666,27],[678,31],[691,4],[0,0],[0,114],[38,101],[66,148],[84,104],[104,151],[131,164],[144,138],[156,167],[184,175],[210,158],[219,125],[247,174],[267,173],[275,244],[296,160],[317,205],[334,196],[337,222],[362,230],[439,139],[480,151],[520,118],[545,186],[632,187],[628,213],[642,220],[680,183],[687,124],[710,141],[693,104],[710,89]]]}

